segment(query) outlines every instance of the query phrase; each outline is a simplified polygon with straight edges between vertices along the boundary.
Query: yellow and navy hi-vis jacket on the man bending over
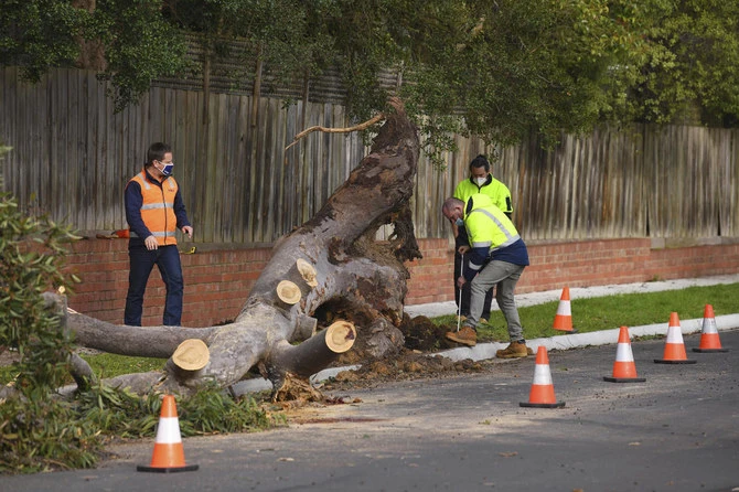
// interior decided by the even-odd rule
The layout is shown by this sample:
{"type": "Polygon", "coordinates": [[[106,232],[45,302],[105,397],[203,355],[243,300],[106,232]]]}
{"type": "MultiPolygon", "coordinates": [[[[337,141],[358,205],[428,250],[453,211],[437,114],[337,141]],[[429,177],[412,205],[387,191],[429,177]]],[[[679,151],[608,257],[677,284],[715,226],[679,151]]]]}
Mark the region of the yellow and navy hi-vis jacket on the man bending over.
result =
{"type": "Polygon", "coordinates": [[[526,244],[513,222],[493,205],[490,196],[478,193],[464,204],[464,228],[470,239],[470,268],[464,278],[472,280],[489,260],[528,265],[526,244]]]}

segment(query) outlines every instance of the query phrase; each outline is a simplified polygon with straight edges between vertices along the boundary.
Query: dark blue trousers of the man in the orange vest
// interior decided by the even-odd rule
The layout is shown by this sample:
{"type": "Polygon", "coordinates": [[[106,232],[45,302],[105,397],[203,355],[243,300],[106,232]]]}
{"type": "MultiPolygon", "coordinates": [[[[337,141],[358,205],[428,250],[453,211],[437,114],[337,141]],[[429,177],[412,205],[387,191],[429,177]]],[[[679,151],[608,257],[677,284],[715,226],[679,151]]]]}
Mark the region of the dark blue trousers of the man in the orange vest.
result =
{"type": "Polygon", "coordinates": [[[128,295],[126,296],[124,324],[131,327],[141,325],[143,293],[147,290],[151,269],[157,265],[167,287],[162,324],[165,327],[179,327],[182,319],[184,280],[182,278],[182,265],[180,264],[178,247],[174,245],[159,246],[158,249],[149,250],[143,244],[135,245],[129,246],[128,257],[130,259],[130,270],[128,274],[128,295]]]}

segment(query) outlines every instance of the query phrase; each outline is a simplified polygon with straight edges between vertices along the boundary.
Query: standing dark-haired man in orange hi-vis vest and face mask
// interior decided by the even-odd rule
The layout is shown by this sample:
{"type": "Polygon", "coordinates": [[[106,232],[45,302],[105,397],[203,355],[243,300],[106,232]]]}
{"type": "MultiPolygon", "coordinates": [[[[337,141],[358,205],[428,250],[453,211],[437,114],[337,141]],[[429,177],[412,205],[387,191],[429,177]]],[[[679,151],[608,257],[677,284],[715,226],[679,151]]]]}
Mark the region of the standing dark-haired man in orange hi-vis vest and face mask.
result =
{"type": "Polygon", "coordinates": [[[162,324],[181,324],[184,280],[174,233],[181,229],[192,238],[192,226],[180,188],[172,178],[173,168],[172,148],[168,143],[152,143],[143,170],[126,185],[130,270],[124,323],[131,327],[141,325],[143,295],[154,265],[167,287],[162,324]]]}

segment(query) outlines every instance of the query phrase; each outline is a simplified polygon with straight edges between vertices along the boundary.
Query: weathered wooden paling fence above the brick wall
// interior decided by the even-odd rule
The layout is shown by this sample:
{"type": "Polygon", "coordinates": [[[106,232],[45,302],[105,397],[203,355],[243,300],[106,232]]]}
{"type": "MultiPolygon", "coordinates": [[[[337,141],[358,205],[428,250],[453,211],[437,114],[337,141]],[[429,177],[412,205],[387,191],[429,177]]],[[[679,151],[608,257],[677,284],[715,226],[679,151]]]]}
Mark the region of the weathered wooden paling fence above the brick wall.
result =
{"type": "MultiPolygon", "coordinates": [[[[212,93],[205,105],[203,92],[152,87],[115,114],[93,72],[56,69],[31,85],[10,67],[0,83],[0,145],[12,147],[1,164],[6,190],[81,231],[126,226],[124,188],[153,141],[174,148],[195,240],[248,245],[310,218],[367,150],[356,133],[314,132],[286,151],[307,127],[351,126],[335,101],[212,93]]],[[[739,236],[738,138],[689,126],[603,127],[545,151],[536,138],[492,149],[457,137],[446,170],[421,156],[416,235],[448,237],[441,202],[472,158],[497,153],[493,173],[511,189],[527,240],[739,236]]]]}

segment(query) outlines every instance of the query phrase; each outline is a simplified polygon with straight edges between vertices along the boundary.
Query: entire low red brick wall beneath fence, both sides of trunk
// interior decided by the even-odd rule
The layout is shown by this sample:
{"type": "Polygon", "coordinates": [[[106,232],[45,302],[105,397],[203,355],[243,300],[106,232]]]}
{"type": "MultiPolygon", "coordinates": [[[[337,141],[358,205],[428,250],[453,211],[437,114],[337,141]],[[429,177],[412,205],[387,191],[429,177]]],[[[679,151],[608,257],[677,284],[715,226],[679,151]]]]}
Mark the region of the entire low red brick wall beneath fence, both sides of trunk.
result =
{"type": "MultiPolygon", "coordinates": [[[[452,248],[447,239],[419,239],[424,258],[408,264],[407,304],[452,300],[452,248]]],[[[654,279],[739,272],[739,243],[670,246],[647,238],[529,244],[532,265],[518,293],[654,279]]],[[[94,318],[121,323],[128,288],[128,242],[77,242],[67,258],[82,278],[69,307],[94,318]]],[[[184,249],[184,247],[183,247],[184,249]]],[[[215,248],[199,245],[182,255],[185,308],[182,323],[207,327],[234,319],[269,261],[270,248],[215,248]]],[[[157,268],[143,304],[144,325],[161,323],[164,285],[157,268]]]]}

